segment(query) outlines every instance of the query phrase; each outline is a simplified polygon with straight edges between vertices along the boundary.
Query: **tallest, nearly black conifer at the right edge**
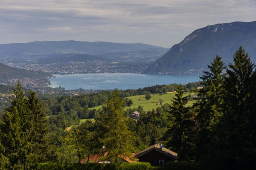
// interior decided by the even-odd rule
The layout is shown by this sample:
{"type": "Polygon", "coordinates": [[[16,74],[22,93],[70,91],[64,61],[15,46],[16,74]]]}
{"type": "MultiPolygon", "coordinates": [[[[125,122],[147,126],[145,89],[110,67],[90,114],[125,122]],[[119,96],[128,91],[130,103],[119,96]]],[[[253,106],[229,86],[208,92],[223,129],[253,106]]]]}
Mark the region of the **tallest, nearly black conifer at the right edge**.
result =
{"type": "MultiPolygon", "coordinates": [[[[224,116],[219,128],[219,147],[224,169],[256,168],[256,147],[250,129],[254,64],[240,46],[227,69],[224,88],[224,116]]],[[[255,106],[254,106],[255,107],[255,106]]],[[[255,122],[254,122],[255,123],[255,122]]],[[[255,142],[255,141],[254,141],[255,142]]]]}

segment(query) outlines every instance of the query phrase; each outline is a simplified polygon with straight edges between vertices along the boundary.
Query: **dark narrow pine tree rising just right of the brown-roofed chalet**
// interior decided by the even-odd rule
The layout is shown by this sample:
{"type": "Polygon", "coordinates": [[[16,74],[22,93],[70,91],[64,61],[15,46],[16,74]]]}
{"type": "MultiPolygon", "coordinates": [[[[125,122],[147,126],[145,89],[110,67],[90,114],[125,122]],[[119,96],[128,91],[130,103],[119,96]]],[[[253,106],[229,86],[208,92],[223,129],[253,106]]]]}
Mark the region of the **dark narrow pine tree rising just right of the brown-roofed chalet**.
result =
{"type": "Polygon", "coordinates": [[[183,97],[181,85],[178,86],[175,96],[176,98],[172,100],[169,117],[169,120],[173,122],[171,122],[172,127],[167,132],[169,134],[167,146],[178,153],[179,160],[189,160],[195,147],[192,135],[194,123],[192,121],[192,114],[189,111],[190,108],[185,106],[188,102],[188,97],[183,97]]]}

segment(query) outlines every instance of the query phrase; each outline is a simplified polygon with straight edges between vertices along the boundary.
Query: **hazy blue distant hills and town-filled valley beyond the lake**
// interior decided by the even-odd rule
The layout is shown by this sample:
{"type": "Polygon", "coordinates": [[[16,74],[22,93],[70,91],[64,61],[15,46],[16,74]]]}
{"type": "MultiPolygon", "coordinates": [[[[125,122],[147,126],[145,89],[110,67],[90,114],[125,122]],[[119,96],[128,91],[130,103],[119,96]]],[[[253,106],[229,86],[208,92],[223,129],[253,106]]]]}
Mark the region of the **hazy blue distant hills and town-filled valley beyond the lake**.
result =
{"type": "Polygon", "coordinates": [[[168,50],[141,43],[36,41],[0,45],[0,63],[52,74],[141,73],[168,50]]]}

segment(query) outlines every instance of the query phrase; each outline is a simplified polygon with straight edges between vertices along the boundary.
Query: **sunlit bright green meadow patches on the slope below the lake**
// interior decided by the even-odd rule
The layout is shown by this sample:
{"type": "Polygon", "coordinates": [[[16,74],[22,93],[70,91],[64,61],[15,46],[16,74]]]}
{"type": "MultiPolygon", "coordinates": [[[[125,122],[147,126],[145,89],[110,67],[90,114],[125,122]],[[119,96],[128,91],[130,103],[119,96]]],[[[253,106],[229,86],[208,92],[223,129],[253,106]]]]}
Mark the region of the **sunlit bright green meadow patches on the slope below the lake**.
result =
{"type": "MultiPolygon", "coordinates": [[[[194,95],[195,93],[185,93],[184,96],[187,95],[194,95]]],[[[129,99],[132,99],[133,104],[130,107],[125,107],[125,109],[127,108],[138,108],[139,105],[141,105],[143,107],[144,111],[151,111],[152,109],[156,109],[158,107],[160,107],[160,103],[159,103],[159,99],[163,100],[163,104],[165,103],[172,103],[172,99],[173,97],[175,97],[175,93],[168,93],[168,94],[151,94],[151,99],[146,100],[145,99],[145,95],[138,95],[138,96],[131,96],[128,97],[129,99]]],[[[192,105],[195,101],[189,101],[187,103],[187,105],[192,105]]],[[[102,108],[102,106],[97,106],[95,108],[90,108],[90,109],[96,109],[98,110],[99,108],[102,108]]]]}

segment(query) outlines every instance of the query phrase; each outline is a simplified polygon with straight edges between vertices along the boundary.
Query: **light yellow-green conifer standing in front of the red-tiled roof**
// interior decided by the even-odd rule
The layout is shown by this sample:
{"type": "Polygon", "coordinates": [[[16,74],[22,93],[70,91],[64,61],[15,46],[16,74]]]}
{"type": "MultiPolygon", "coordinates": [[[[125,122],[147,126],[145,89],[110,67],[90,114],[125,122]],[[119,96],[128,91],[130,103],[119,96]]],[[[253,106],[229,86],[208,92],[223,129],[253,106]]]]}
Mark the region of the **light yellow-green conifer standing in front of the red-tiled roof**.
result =
{"type": "Polygon", "coordinates": [[[123,99],[114,91],[102,108],[102,115],[96,119],[99,141],[108,150],[106,158],[111,162],[117,162],[118,156],[129,154],[133,148],[131,132],[126,125],[127,119],[122,113],[123,99]]]}

